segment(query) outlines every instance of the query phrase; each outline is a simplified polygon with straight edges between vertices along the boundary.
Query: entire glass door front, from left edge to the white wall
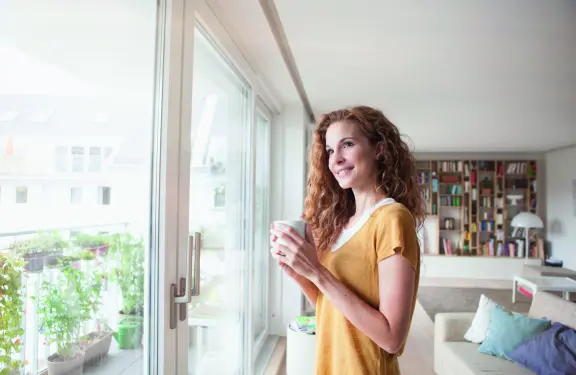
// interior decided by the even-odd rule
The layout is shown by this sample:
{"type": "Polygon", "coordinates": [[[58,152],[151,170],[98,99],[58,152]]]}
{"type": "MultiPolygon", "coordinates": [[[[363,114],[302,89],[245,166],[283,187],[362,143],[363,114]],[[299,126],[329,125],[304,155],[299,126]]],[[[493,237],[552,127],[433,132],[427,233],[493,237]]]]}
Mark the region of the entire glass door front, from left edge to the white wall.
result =
{"type": "Polygon", "coordinates": [[[0,373],[252,373],[271,115],[193,5],[3,2],[0,373]]]}

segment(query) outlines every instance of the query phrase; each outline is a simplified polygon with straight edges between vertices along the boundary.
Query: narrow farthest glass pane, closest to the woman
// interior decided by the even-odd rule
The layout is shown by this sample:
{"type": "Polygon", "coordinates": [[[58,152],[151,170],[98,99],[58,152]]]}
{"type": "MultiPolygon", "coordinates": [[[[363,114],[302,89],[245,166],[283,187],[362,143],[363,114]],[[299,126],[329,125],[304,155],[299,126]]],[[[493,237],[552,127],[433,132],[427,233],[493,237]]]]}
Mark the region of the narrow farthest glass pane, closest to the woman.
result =
{"type": "Polygon", "coordinates": [[[267,320],[267,268],[269,259],[268,192],[270,184],[270,122],[260,113],[256,115],[256,183],[255,183],[255,241],[252,269],[252,330],[253,340],[265,333],[267,320]]]}

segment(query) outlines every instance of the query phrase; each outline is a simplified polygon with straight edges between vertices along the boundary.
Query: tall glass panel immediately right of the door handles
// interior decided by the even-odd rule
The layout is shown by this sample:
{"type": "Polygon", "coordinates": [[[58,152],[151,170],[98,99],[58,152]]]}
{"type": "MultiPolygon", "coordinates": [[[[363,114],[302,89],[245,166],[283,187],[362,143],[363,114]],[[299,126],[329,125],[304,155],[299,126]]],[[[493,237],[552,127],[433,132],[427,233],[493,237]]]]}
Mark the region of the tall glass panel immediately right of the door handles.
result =
{"type": "Polygon", "coordinates": [[[188,306],[189,374],[243,373],[249,95],[249,87],[197,30],[189,230],[202,240],[199,296],[188,306]]]}

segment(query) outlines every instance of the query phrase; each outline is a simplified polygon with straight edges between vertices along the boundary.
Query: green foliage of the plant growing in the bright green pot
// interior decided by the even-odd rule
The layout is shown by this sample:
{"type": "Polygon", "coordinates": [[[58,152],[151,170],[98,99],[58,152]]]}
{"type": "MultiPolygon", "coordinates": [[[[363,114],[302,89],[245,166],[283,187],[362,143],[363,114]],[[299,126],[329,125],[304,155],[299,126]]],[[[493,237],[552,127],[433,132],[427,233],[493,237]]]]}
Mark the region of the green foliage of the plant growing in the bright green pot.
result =
{"type": "Polygon", "coordinates": [[[116,258],[114,280],[122,291],[122,313],[143,315],[144,312],[144,241],[128,233],[115,235],[110,251],[116,258]]]}

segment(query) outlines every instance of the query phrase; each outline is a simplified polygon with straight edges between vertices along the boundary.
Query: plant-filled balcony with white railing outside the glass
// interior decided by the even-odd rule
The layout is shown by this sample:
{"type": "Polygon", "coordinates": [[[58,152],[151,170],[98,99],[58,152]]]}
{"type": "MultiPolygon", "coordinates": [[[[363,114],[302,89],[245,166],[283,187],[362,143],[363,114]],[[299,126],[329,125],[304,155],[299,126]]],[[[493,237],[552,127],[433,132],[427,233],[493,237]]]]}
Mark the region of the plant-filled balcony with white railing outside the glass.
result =
{"type": "Polygon", "coordinates": [[[7,339],[0,349],[12,353],[0,356],[0,372],[43,374],[71,364],[63,360],[76,353],[84,374],[141,368],[145,246],[130,224],[0,239],[0,333],[7,339]]]}

